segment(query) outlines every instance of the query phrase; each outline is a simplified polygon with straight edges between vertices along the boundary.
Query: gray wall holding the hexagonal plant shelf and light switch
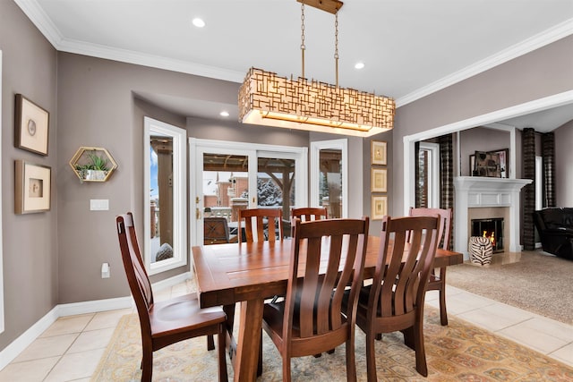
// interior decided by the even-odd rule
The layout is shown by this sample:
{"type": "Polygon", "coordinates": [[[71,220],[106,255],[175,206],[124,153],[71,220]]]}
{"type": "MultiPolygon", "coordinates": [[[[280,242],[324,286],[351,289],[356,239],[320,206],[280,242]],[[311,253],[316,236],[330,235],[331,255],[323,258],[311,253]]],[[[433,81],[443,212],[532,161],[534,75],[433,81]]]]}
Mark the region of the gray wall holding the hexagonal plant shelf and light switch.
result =
{"type": "MultiPolygon", "coordinates": [[[[156,93],[234,103],[236,83],[83,55],[61,53],[58,58],[58,103],[63,106],[58,131],[60,165],[65,168],[80,146],[105,147],[118,164],[106,183],[81,184],[67,169],[60,174],[60,303],[129,294],[113,222],[117,214],[131,210],[138,226],[143,224],[143,115],[186,128],[188,135],[196,138],[308,146],[305,132],[185,119],[141,99],[134,101],[134,93],[156,93]],[[109,199],[109,210],[90,211],[90,199],[109,199]],[[111,278],[100,277],[103,262],[110,264],[111,278]]],[[[186,269],[175,269],[151,280],[174,276],[186,269]]]]}

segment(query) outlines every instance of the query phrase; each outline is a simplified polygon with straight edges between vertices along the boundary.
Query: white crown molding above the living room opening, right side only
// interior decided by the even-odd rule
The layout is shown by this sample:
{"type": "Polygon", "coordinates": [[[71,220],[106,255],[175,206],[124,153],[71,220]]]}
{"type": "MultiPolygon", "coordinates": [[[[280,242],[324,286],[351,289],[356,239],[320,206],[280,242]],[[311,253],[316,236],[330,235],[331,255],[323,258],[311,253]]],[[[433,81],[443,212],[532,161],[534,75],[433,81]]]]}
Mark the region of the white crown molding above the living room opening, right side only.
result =
{"type": "Polygon", "coordinates": [[[531,38],[527,38],[526,40],[521,41],[512,47],[504,49],[495,55],[484,58],[482,61],[478,61],[475,64],[466,66],[466,68],[458,72],[449,74],[448,76],[438,81],[432,82],[431,84],[417,89],[404,97],[396,99],[396,107],[405,106],[417,99],[429,96],[438,90],[445,89],[451,85],[454,85],[455,83],[464,81],[481,72],[488,71],[495,66],[507,63],[509,60],[513,60],[520,55],[526,55],[535,49],[549,45],[552,42],[559,40],[560,38],[565,38],[572,34],[573,19],[563,21],[548,30],[543,30],[543,32],[538,33],[531,38]]]}

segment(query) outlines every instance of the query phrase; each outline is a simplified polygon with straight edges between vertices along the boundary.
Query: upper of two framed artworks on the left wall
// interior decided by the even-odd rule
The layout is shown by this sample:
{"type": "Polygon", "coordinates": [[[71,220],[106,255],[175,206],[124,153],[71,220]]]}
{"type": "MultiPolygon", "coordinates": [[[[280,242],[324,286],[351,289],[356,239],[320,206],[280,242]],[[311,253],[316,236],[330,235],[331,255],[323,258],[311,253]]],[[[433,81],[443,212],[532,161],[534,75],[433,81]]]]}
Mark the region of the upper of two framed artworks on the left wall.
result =
{"type": "Polygon", "coordinates": [[[47,156],[49,113],[21,94],[16,94],[14,146],[47,156]]]}

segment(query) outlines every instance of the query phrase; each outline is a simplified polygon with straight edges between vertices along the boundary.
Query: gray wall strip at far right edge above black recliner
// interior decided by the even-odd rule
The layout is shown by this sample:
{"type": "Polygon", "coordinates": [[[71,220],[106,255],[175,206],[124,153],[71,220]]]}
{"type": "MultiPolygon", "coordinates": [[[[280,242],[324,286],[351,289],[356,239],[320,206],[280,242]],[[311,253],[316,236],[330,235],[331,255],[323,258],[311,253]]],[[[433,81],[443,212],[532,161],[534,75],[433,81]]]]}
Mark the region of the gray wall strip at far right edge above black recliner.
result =
{"type": "Polygon", "coordinates": [[[555,130],[555,196],[558,207],[573,207],[573,121],[555,130]]]}

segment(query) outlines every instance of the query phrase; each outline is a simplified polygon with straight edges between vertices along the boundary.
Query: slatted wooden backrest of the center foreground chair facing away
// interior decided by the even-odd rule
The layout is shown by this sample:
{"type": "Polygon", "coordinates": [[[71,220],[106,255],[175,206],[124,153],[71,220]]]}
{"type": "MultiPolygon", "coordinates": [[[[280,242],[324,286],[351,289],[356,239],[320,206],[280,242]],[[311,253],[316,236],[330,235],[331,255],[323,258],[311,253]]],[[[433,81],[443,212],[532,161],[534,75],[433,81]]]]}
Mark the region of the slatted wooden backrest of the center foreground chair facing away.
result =
{"type": "Polygon", "coordinates": [[[343,318],[340,312],[346,285],[350,285],[350,300],[357,301],[368,240],[368,218],[309,222],[293,218],[292,225],[294,242],[284,327],[293,327],[296,321],[301,338],[325,335],[355,319],[355,303],[350,304],[350,318],[343,318]]]}

